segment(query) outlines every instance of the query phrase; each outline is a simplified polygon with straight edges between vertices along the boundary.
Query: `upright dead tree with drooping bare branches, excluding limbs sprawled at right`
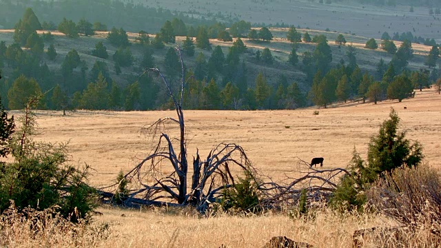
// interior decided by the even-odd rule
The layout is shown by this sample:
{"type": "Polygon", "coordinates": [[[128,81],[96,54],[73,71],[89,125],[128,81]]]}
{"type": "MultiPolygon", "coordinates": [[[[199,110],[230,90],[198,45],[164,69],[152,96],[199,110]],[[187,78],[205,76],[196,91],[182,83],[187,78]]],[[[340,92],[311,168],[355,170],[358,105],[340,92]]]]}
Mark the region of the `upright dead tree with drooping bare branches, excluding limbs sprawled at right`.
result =
{"type": "MultiPolygon", "coordinates": [[[[178,99],[174,95],[172,85],[160,70],[149,68],[146,72],[154,73],[162,79],[174,103],[178,118],[161,118],[145,128],[145,131],[153,136],[158,135],[158,143],[149,156],[125,174],[125,180],[131,183],[128,185],[130,193],[124,204],[127,206],[194,205],[199,211],[205,211],[210,203],[216,202],[222,196],[224,189],[234,187],[235,179],[244,174],[256,173],[244,149],[234,143],[217,145],[205,160],[202,160],[196,152],[192,167],[189,168],[183,112],[184,67],[181,50],[177,47],[176,51],[182,65],[181,91],[178,99]],[[161,127],[167,123],[178,126],[178,138],[161,132],[161,127]],[[178,149],[175,149],[176,146],[178,149]],[[172,172],[163,173],[167,169],[172,172]],[[191,183],[187,185],[189,181],[191,183]]],[[[110,200],[115,196],[118,185],[119,183],[101,189],[101,196],[110,200]]]]}

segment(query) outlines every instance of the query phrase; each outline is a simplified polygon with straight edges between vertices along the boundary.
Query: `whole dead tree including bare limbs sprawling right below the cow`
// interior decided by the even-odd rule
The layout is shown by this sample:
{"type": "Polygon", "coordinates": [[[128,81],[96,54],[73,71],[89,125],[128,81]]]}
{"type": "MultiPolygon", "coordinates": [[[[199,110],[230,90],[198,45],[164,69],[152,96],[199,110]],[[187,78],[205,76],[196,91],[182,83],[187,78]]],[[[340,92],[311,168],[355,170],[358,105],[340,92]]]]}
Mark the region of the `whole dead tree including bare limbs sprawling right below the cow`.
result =
{"type": "MultiPolygon", "coordinates": [[[[309,163],[299,159],[300,178],[285,176],[285,180],[275,183],[271,178],[259,175],[250,163],[245,150],[234,143],[221,143],[214,147],[203,160],[198,151],[189,167],[187,154],[187,136],[183,112],[185,76],[181,50],[177,47],[181,59],[181,87],[178,97],[174,95],[172,85],[157,68],[147,69],[160,77],[167,93],[170,95],[178,118],[161,118],[152,125],[145,127],[145,132],[158,138],[150,155],[146,156],[130,172],[125,174],[128,193],[122,199],[123,205],[136,207],[139,205],[183,207],[192,205],[198,211],[205,212],[212,203],[220,202],[225,189],[234,189],[241,176],[252,176],[260,196],[260,206],[276,208],[280,205],[295,204],[300,198],[302,189],[307,189],[309,201],[329,198],[337,187],[337,180],[345,169],[318,170],[309,163]],[[178,127],[178,137],[174,138],[163,132],[165,125],[178,127]],[[178,147],[178,149],[175,149],[178,147]],[[191,178],[190,178],[191,176],[191,178]],[[187,185],[189,183],[189,185],[187,185]]],[[[119,183],[99,190],[103,200],[112,202],[119,183]]]]}

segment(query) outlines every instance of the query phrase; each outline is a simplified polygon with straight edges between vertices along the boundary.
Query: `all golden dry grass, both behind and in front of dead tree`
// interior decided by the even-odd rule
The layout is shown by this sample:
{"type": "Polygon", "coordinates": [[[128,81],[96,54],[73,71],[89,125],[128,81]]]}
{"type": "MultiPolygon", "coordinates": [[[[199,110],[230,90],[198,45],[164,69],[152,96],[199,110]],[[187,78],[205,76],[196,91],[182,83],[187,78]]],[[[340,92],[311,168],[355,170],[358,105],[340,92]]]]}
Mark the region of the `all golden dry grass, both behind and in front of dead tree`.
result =
{"type": "MultiPolygon", "coordinates": [[[[417,92],[414,99],[372,103],[336,104],[327,109],[293,111],[186,111],[189,154],[207,154],[221,142],[242,145],[262,174],[275,179],[295,176],[298,158],[325,158],[325,168],[345,167],[354,147],[365,156],[369,137],[394,107],[408,138],[424,145],[424,163],[440,168],[441,96],[434,90],[417,92]],[[407,107],[404,110],[404,106],[407,107]],[[298,157],[298,158],[297,158],[298,157]]],[[[13,112],[12,114],[19,114],[13,112]]],[[[152,142],[141,127],[174,112],[38,112],[39,138],[69,141],[73,163],[88,163],[95,172],[92,185],[112,183],[120,169],[127,172],[143,158],[152,142]]],[[[171,130],[170,132],[174,132],[171,130]]],[[[295,206],[294,206],[295,207],[295,206]]],[[[287,210],[294,208],[287,207],[287,210]]],[[[262,247],[272,236],[287,236],[315,247],[351,247],[353,231],[368,227],[397,225],[379,214],[336,214],[317,211],[314,218],[290,218],[288,214],[263,216],[203,217],[191,209],[114,209],[99,207],[94,216],[95,231],[69,238],[63,231],[47,231],[39,239],[21,227],[10,227],[9,247],[262,247]],[[103,225],[109,225],[109,229],[103,225]],[[14,229],[16,228],[16,229],[14,229]],[[102,231],[96,231],[96,229],[102,231]],[[45,244],[45,245],[44,245],[45,244]]],[[[419,243],[425,233],[409,236],[409,247],[429,247],[419,243]]],[[[381,238],[365,247],[382,247],[381,238]]],[[[1,246],[0,242],[0,246],[1,246]]]]}

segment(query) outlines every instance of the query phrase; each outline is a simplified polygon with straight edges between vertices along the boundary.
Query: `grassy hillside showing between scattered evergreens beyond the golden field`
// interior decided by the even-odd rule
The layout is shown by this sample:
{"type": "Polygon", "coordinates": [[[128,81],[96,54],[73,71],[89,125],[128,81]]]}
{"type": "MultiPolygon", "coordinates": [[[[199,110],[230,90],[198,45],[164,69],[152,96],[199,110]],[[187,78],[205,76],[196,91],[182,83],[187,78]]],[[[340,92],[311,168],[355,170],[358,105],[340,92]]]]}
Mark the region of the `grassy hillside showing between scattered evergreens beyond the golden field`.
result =
{"type": "MultiPolygon", "coordinates": [[[[299,29],[300,32],[309,32],[311,36],[314,36],[316,34],[325,34],[328,37],[329,45],[331,45],[332,52],[333,52],[333,63],[338,63],[340,59],[346,60],[346,46],[342,46],[341,48],[338,47],[334,43],[334,40],[336,39],[338,33],[336,32],[324,32],[324,31],[318,31],[318,30],[302,30],[299,29]]],[[[313,51],[315,48],[314,43],[299,43],[298,46],[298,55],[300,62],[295,67],[289,65],[287,63],[289,52],[291,52],[291,44],[286,40],[286,32],[287,29],[285,28],[275,28],[271,29],[271,32],[273,32],[275,40],[271,41],[271,43],[251,43],[247,41],[247,39],[244,39],[245,44],[248,46],[249,50],[246,54],[244,54],[241,59],[244,59],[247,62],[247,69],[248,69],[248,81],[249,85],[254,85],[254,79],[256,77],[256,74],[258,72],[264,72],[267,76],[267,79],[269,83],[276,83],[276,80],[278,79],[278,76],[280,74],[285,74],[287,76],[289,82],[299,82],[300,85],[302,85],[302,89],[304,91],[309,90],[308,86],[305,85],[305,74],[300,70],[301,65],[301,54],[305,51],[313,51]],[[262,63],[256,63],[254,59],[254,52],[256,50],[263,50],[263,48],[269,48],[275,58],[275,63],[273,65],[264,65],[262,63]]],[[[8,44],[12,43],[12,30],[1,30],[0,32],[0,41],[4,40],[8,44]]],[[[93,37],[79,37],[78,39],[70,39],[68,37],[65,37],[63,34],[54,32],[55,35],[55,49],[57,50],[58,56],[55,61],[49,61],[46,56],[44,56],[45,59],[43,61],[45,63],[48,63],[48,66],[51,70],[56,71],[56,76],[58,80],[61,80],[61,74],[59,72],[59,68],[61,63],[63,62],[63,59],[65,58],[65,54],[67,54],[72,48],[77,50],[81,56],[82,60],[85,60],[88,63],[89,70],[92,69],[93,64],[96,60],[103,60],[96,58],[94,56],[91,56],[91,52],[94,49],[95,44],[98,41],[103,41],[104,45],[107,47],[107,52],[110,55],[110,58],[106,61],[108,68],[110,69],[110,74],[113,79],[116,80],[116,82],[121,83],[122,85],[125,85],[127,83],[132,83],[130,81],[127,81],[129,78],[133,78],[134,76],[139,76],[139,74],[142,73],[143,68],[140,68],[139,64],[141,60],[143,59],[143,55],[141,54],[141,48],[139,45],[132,45],[131,49],[135,57],[135,63],[134,66],[131,68],[122,68],[123,73],[119,76],[116,76],[114,73],[114,62],[112,61],[112,55],[114,54],[116,48],[113,45],[110,45],[108,41],[105,39],[106,32],[100,32],[93,37]]],[[[129,33],[130,39],[134,41],[134,38],[137,36],[137,34],[129,33]]],[[[383,58],[386,62],[391,60],[391,55],[387,54],[387,52],[384,52],[383,50],[367,50],[364,49],[365,42],[367,41],[366,37],[359,37],[359,36],[353,36],[349,34],[345,34],[345,37],[347,39],[347,44],[353,43],[353,45],[358,48],[357,49],[357,61],[358,64],[362,69],[365,69],[369,71],[370,73],[375,73],[375,67],[376,63],[380,60],[380,58],[383,58]]],[[[181,43],[183,40],[183,37],[178,37],[177,41],[178,43],[181,43]]],[[[378,41],[379,43],[380,41],[378,41]]],[[[214,45],[221,45],[223,47],[223,51],[225,56],[228,53],[228,47],[232,45],[231,42],[222,42],[217,40],[211,41],[212,46],[214,45]]],[[[397,46],[400,45],[400,42],[397,42],[397,46]]],[[[46,48],[48,45],[46,44],[46,48]]],[[[414,44],[413,49],[416,52],[416,56],[410,61],[409,68],[411,70],[416,70],[423,65],[424,63],[424,56],[429,51],[429,47],[424,45],[418,45],[414,44]]],[[[160,68],[163,66],[163,60],[165,56],[165,52],[167,49],[164,50],[156,50],[154,54],[154,59],[156,61],[156,65],[158,65],[160,68]]],[[[196,54],[198,52],[203,52],[205,54],[205,58],[208,60],[209,56],[211,55],[210,51],[207,50],[200,50],[196,48],[196,54]]],[[[194,59],[196,59],[196,56],[189,58],[185,57],[185,63],[192,67],[194,65],[194,59]]],[[[79,70],[79,69],[77,69],[79,70]]],[[[6,75],[8,74],[8,70],[6,70],[6,75]]]]}

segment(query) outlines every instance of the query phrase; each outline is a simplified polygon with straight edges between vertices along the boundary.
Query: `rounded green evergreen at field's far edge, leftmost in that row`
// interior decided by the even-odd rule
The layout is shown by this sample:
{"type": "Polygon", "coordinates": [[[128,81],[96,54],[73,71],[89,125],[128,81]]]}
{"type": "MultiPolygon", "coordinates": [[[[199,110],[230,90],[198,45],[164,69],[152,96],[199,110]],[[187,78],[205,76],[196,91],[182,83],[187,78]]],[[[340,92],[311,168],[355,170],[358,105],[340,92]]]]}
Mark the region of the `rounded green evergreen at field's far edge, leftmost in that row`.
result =
{"type": "Polygon", "coordinates": [[[8,107],[10,110],[21,110],[33,96],[41,95],[39,83],[35,79],[19,76],[8,90],[8,107]]]}

